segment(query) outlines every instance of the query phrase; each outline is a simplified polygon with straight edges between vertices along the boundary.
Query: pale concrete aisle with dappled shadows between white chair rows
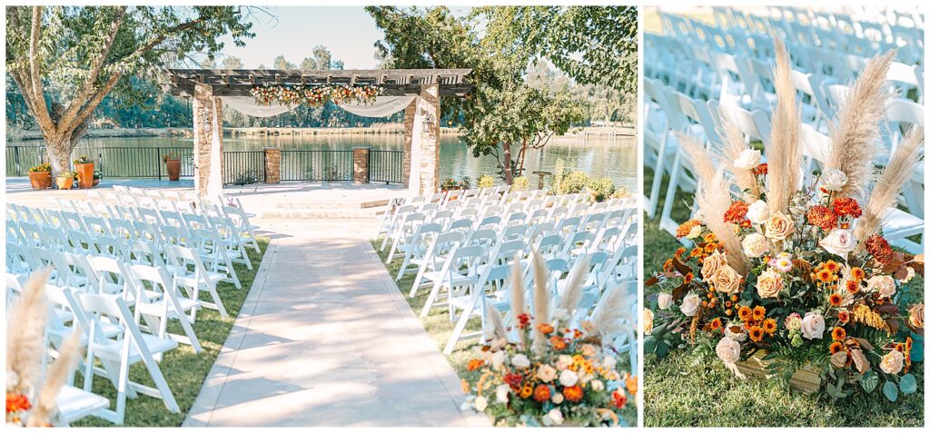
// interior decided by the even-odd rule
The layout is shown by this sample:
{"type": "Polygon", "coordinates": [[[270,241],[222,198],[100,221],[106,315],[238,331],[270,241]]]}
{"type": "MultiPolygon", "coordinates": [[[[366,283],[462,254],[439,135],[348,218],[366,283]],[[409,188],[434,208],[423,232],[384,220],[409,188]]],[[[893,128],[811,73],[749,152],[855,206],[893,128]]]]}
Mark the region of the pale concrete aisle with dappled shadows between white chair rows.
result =
{"type": "Polygon", "coordinates": [[[272,243],[184,426],[487,426],[368,244],[373,220],[257,221],[272,243]],[[273,226],[272,226],[273,224],[273,226]]]}

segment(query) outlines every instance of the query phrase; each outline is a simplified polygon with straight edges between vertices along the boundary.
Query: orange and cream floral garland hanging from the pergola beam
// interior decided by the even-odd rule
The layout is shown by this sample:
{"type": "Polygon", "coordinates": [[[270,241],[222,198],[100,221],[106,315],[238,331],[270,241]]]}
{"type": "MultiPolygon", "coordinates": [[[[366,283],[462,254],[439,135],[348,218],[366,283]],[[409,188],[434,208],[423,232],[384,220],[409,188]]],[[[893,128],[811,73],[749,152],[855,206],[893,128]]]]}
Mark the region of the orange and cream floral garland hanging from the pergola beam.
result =
{"type": "Polygon", "coordinates": [[[307,105],[320,107],[326,102],[335,104],[358,102],[369,104],[381,93],[375,85],[274,85],[265,84],[252,87],[252,98],[259,105],[272,103],[280,105],[307,105]]]}

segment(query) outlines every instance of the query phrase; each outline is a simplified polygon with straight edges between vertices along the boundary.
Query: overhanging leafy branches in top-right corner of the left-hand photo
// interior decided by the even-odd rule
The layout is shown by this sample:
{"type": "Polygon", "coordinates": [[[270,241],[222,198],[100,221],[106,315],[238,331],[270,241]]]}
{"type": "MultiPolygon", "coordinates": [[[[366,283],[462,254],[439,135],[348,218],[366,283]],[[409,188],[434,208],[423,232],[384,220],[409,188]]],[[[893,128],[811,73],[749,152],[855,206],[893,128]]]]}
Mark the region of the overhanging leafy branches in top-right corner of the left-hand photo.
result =
{"type": "Polygon", "coordinates": [[[636,7],[476,7],[485,41],[551,62],[582,85],[636,93],[636,7]]]}

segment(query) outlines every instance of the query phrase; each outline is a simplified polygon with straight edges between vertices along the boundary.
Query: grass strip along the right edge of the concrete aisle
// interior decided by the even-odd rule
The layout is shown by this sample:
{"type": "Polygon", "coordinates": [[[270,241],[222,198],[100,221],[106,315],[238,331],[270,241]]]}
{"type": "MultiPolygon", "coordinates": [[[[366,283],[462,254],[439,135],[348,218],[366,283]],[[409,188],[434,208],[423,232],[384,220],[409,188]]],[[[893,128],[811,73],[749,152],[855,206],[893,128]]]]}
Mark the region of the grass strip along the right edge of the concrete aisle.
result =
{"type": "MultiPolygon", "coordinates": [[[[394,260],[391,263],[386,263],[388,258],[388,251],[379,251],[379,247],[383,238],[378,240],[372,240],[371,246],[378,253],[381,263],[384,264],[384,268],[388,270],[388,273],[392,278],[396,278],[397,271],[400,269],[401,262],[404,260],[404,256],[394,255],[394,260]]],[[[436,344],[437,350],[442,350],[445,348],[445,343],[449,339],[449,335],[452,335],[452,328],[455,326],[455,323],[449,321],[449,313],[446,308],[433,308],[430,311],[430,314],[423,318],[419,317],[419,311],[423,308],[423,305],[426,303],[426,298],[430,295],[429,289],[421,289],[418,291],[418,294],[414,297],[410,297],[407,294],[410,292],[410,287],[413,285],[413,280],[417,277],[416,272],[407,273],[401,281],[396,282],[397,288],[401,291],[401,294],[404,296],[404,299],[407,302],[407,305],[410,309],[413,310],[414,314],[419,319],[420,323],[423,325],[423,329],[426,330],[427,334],[430,335],[432,341],[436,344]]],[[[468,322],[468,326],[465,328],[465,334],[470,334],[475,331],[481,330],[481,318],[474,317],[468,322]]],[[[466,339],[460,340],[456,344],[455,349],[452,351],[452,354],[445,355],[445,361],[449,363],[459,378],[464,378],[464,374],[468,372],[466,365],[468,361],[474,358],[472,356],[472,350],[478,347],[478,339],[466,339]]],[[[630,359],[625,356],[618,356],[617,358],[617,371],[624,372],[630,371],[630,359]]],[[[471,409],[469,409],[471,410],[471,409]]],[[[626,423],[625,426],[637,426],[637,411],[636,405],[633,404],[633,401],[630,402],[620,410],[621,422],[626,423]]],[[[489,417],[490,419],[490,417],[489,417]]],[[[493,420],[492,420],[493,421],[493,420]]]]}

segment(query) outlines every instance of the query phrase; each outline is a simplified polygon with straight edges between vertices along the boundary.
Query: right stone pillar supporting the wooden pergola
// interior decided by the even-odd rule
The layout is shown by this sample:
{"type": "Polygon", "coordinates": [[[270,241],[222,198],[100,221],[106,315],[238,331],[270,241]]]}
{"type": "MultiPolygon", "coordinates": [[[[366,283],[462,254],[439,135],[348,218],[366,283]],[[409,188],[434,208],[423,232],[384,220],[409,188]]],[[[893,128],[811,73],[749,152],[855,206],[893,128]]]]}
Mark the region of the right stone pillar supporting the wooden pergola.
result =
{"type": "Polygon", "coordinates": [[[422,119],[414,123],[424,125],[432,118],[430,130],[419,135],[419,193],[426,195],[439,190],[439,85],[421,85],[419,97],[416,115],[422,119]]]}

